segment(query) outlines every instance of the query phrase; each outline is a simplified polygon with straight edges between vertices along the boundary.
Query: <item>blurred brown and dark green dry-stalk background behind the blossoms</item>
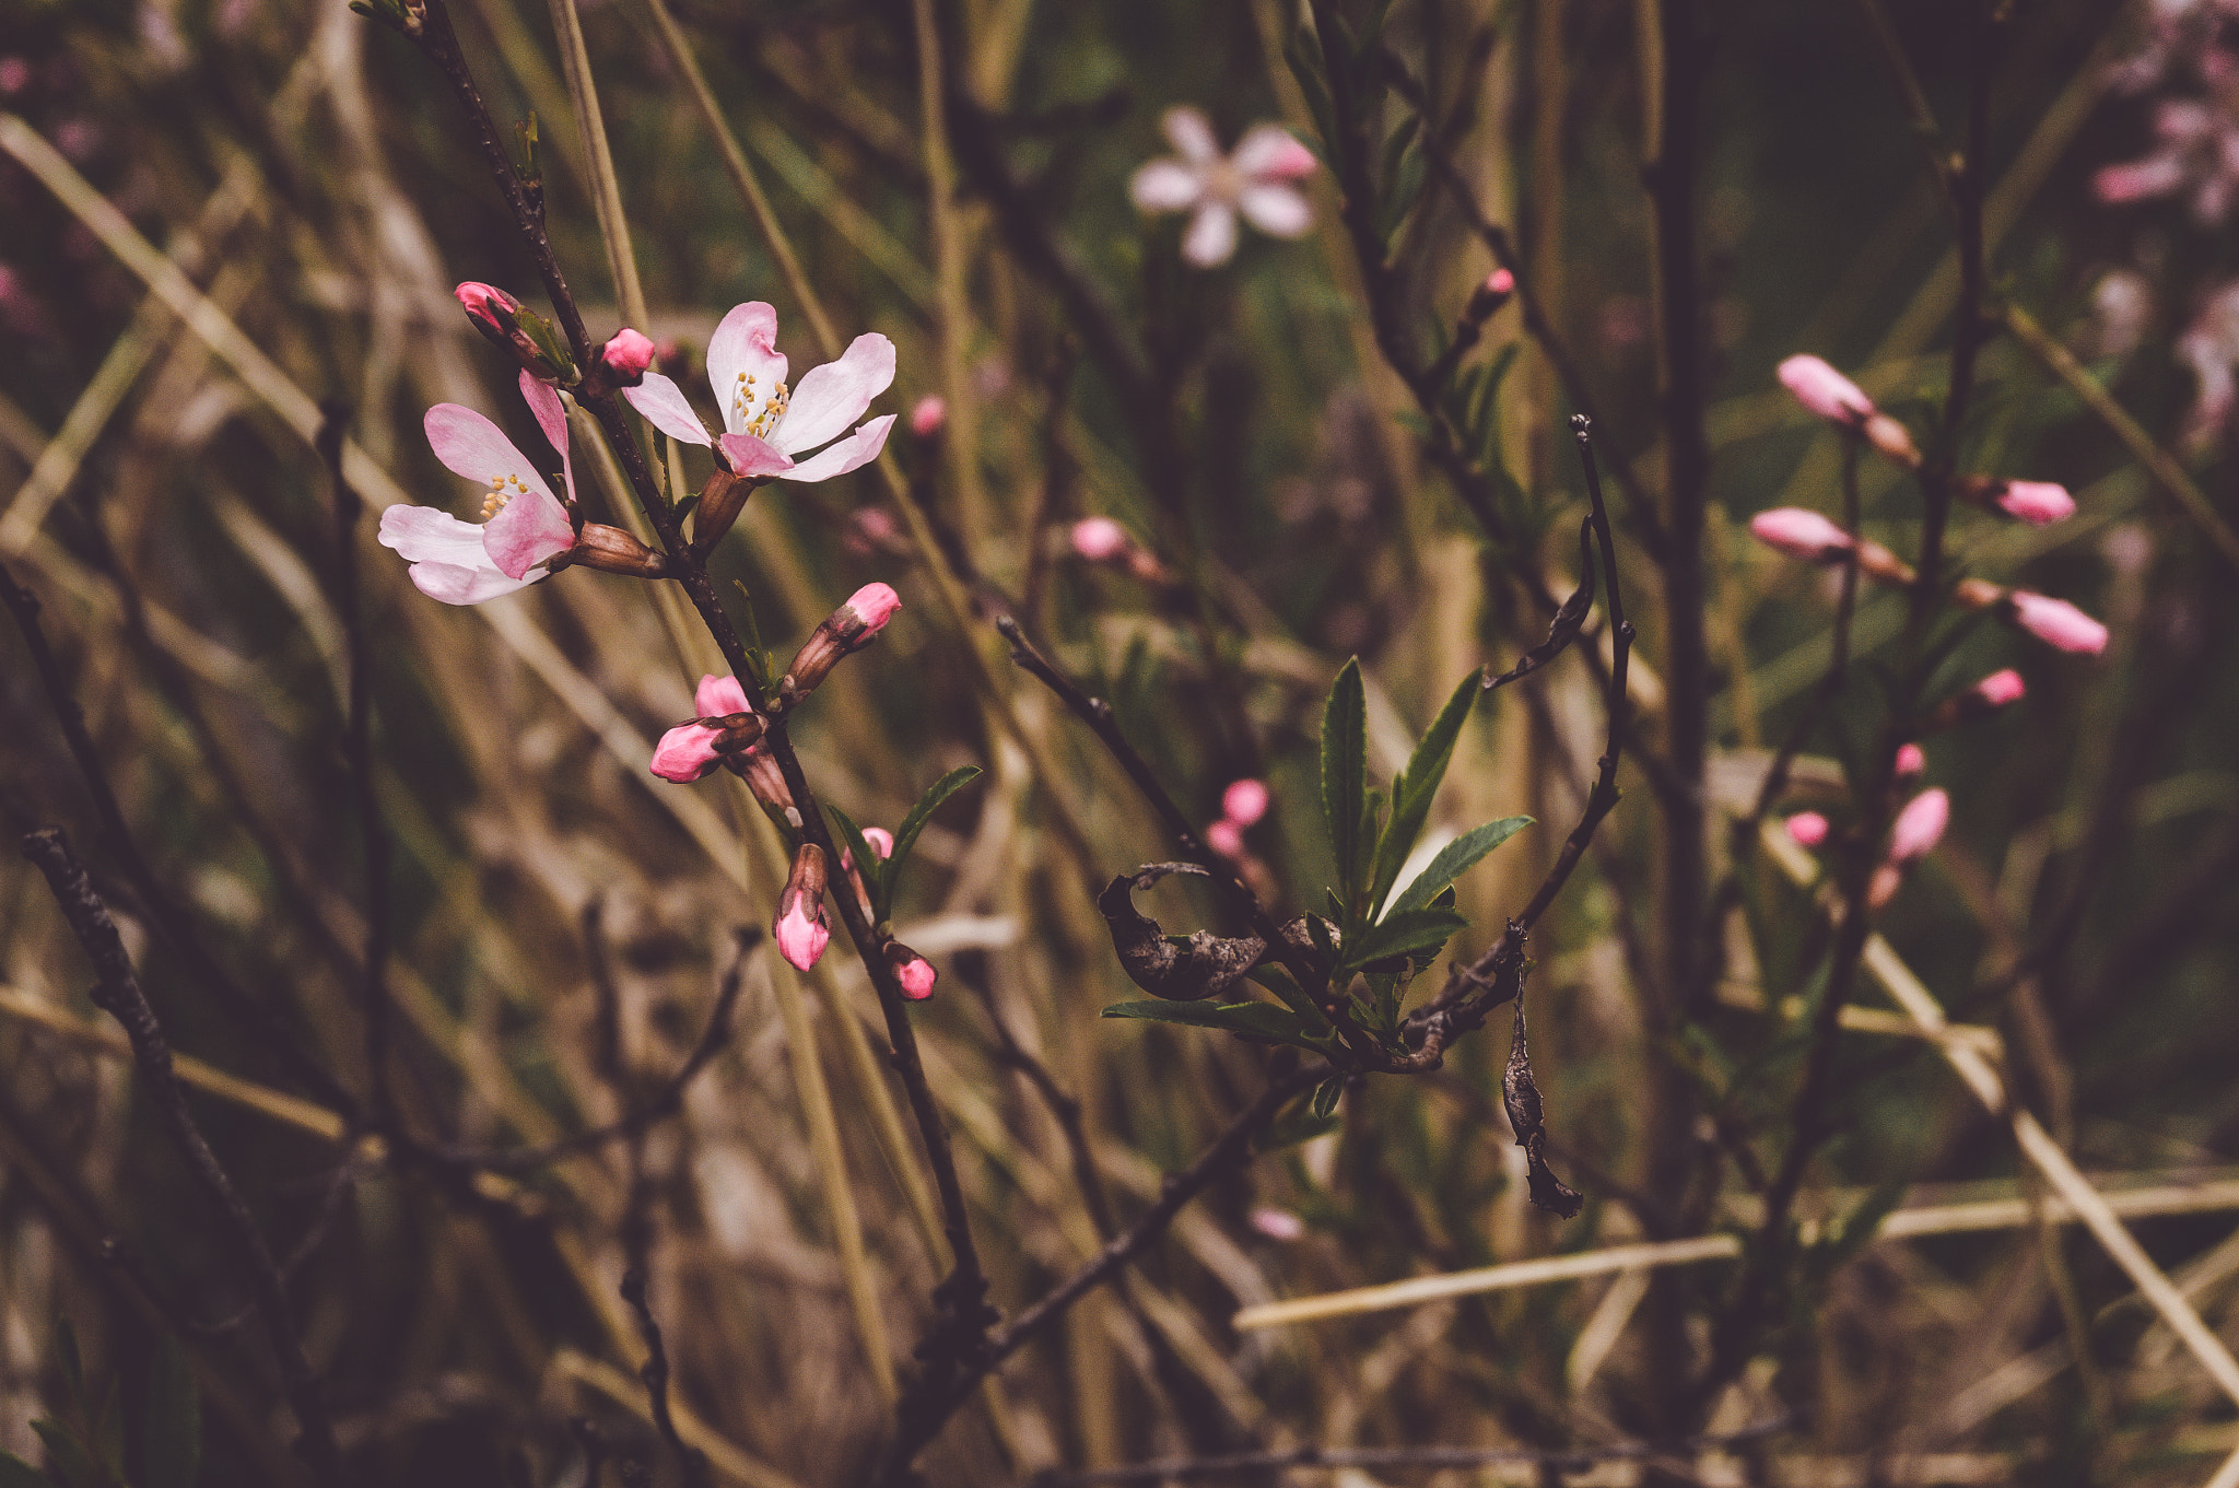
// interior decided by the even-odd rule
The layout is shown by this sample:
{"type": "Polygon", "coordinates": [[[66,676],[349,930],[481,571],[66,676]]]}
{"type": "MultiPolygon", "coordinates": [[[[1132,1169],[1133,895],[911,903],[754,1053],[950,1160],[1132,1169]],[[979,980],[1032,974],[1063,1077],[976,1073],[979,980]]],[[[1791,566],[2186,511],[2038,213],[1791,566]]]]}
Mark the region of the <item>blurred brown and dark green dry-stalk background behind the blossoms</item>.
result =
{"type": "MultiPolygon", "coordinates": [[[[170,253],[293,387],[347,401],[354,439],[401,492],[463,510],[419,432],[437,401],[484,409],[524,450],[542,448],[510,369],[450,300],[457,280],[535,300],[533,266],[450,94],[410,45],[338,0],[0,4],[0,110],[170,253]]],[[[898,425],[893,448],[949,562],[987,609],[1014,609],[1115,703],[1202,821],[1227,783],[1267,779],[1274,810],[1247,850],[1267,895],[1301,913],[1328,882],[1314,738],[1330,678],[1346,656],[1364,658],[1370,774],[1388,781],[1455,680],[1540,638],[1543,618],[1493,575],[1523,562],[1570,586],[1583,510],[1572,409],[1518,311],[1500,311],[1476,356],[1523,342],[1498,405],[1523,499],[1516,546],[1489,553],[1422,461],[1408,398],[1377,358],[1328,175],[1305,183],[1319,219],[1308,237],[1247,230],[1214,271],[1180,262],[1178,219],[1128,204],[1131,172],[1167,152],[1169,105],[1202,107],[1222,141],[1267,119],[1310,134],[1281,60],[1296,18],[1278,0],[938,9],[1032,215],[1171,389],[1178,461],[1142,448],[1124,380],[999,230],[985,183],[965,170],[954,197],[929,197],[911,7],[692,2],[676,18],[842,338],[896,340],[900,374],[873,412],[947,398],[940,443],[898,425]],[[954,230],[947,257],[929,201],[954,230]],[[1084,562],[1066,533],[1090,515],[1117,517],[1164,577],[1084,562]]],[[[1832,613],[1823,571],[1746,541],[1758,510],[1836,510],[1836,439],[1778,389],[1773,365],[1827,356],[1926,423],[1948,376],[1957,275],[1863,9],[1708,9],[1697,206],[1715,459],[1711,797],[1735,810],[1751,761],[1762,770],[1825,667],[1832,613]]],[[[1885,7],[1950,128],[1966,94],[1959,9],[1885,7]]],[[[2183,199],[2093,192],[2093,170],[2156,136],[2152,101],[2125,92],[2116,67],[2174,7],[2013,9],[1990,94],[1995,282],[2176,448],[2199,380],[2172,342],[2232,271],[2230,230],[2183,199]]],[[[1617,0],[1399,0],[1388,22],[1393,49],[1453,114],[1458,161],[1516,235],[1601,403],[1603,459],[1632,465],[1648,490],[1664,459],[1641,190],[1652,13],[1617,0]]],[[[499,119],[540,119],[553,242],[605,336],[620,311],[551,13],[457,0],[455,20],[499,119]]],[[[638,0],[584,4],[582,27],[645,282],[643,329],[665,365],[696,369],[719,316],[750,298],[779,307],[797,369],[824,360],[638,0]]],[[[125,814],[195,935],[363,1090],[365,870],[340,754],[325,474],[269,387],[150,300],[92,222],[87,201],[0,159],[0,490],[13,492],[0,562],[43,602],[125,814]]],[[[1426,336],[1491,269],[1444,188],[1399,230],[1395,264],[1426,336]]],[[[1959,562],[2076,600],[2114,642],[2089,660],[1997,627],[1968,635],[1955,680],[2013,665],[2029,696],[1928,741],[1928,779],[1952,792],[1955,830],[1883,929],[1955,1020],[2002,1036],[2008,1087],[2085,1170],[2114,1186],[2228,1179],[2239,586],[2109,427],[2011,338],[1986,351],[1964,443],[1961,468],[2062,481],[2082,510],[2042,533],[1966,515],[1959,562]],[[2006,976],[2024,953],[2024,973],[2006,976]]],[[[2226,450],[2219,432],[2194,434],[2183,459],[2230,512],[2226,450]]],[[[687,456],[701,459],[685,470],[696,483],[705,456],[687,456]]],[[[1910,550],[1910,483],[1870,468],[1865,515],[1870,533],[1910,550]]],[[[716,573],[746,586],[781,656],[858,584],[902,591],[882,642],[802,721],[811,776],[855,821],[891,828],[945,770],[990,772],[927,832],[898,933],[943,971],[916,1016],[994,1300],[1014,1311],[1093,1253],[1097,1231],[1052,1108],[1005,1040],[1079,1099],[1097,1181],[1122,1215],[1256,1094],[1270,1052],[1097,1020],[1133,989],[1088,893],[1169,848],[1093,738],[1008,669],[992,631],[947,620],[900,533],[873,470],[775,486],[716,573]],[[972,647],[996,669],[996,700],[976,691],[972,647]],[[992,709],[1014,712],[1039,759],[992,709]],[[1081,823],[1086,853],[1057,828],[1059,810],[1081,823]]],[[[1655,743],[1657,571],[1623,524],[1619,537],[1646,674],[1634,700],[1655,743]]],[[[737,814],[716,783],[669,788],[645,772],[649,741],[690,714],[703,660],[678,656],[649,591],[625,580],[571,573],[455,611],[410,588],[372,546],[372,521],[358,539],[376,788],[396,844],[405,1119],[428,1139],[477,1146],[611,1119],[699,1038],[732,929],[766,922],[777,891],[759,819],[737,814]],[[618,1067],[602,1072],[609,1014],[618,1067]]],[[[1861,606],[1867,660],[1899,611],[1894,597],[1861,606]]],[[[197,1114],[291,1262],[307,1347],[367,1481],[580,1481],[571,1414],[658,1459],[631,1374],[638,1336],[616,1298],[631,1215],[649,1226],[654,1311],[716,1475],[775,1488],[866,1468],[940,1255],[858,967],[835,951],[793,980],[768,951],[748,953],[734,1038],[636,1155],[616,1143],[479,1190],[399,1172],[354,1146],[150,933],[13,629],[0,658],[0,814],[11,832],[49,821],[74,832],[179,1049],[249,1081],[197,1096],[197,1114]]],[[[1876,723],[1861,669],[1791,799],[1840,801],[1834,761],[1863,750],[1876,723]]],[[[1473,929],[1458,951],[1476,955],[1529,895],[1599,750],[1599,700],[1576,658],[1478,709],[1433,830],[1516,812],[1540,826],[1464,879],[1473,929]]],[[[1525,1204],[1498,1101],[1502,1036],[1469,1040],[1437,1076],[1359,1083],[1339,1132],[1218,1188],[1126,1293],[1090,1298],[1030,1345],[927,1457],[931,1481],[1252,1445],[1558,1448],[1675,1421],[1677,1383],[1659,1378],[1643,1329],[1702,1347],[1731,1266],[1677,1273],[1657,1302],[1677,1313],[1630,1327],[1637,1273],[1303,1327],[1229,1325],[1238,1307],[1281,1296],[1670,1237],[1623,1199],[1670,1177],[1643,1170],[1670,1148],[1650,1141],[1659,1130],[1679,1132],[1681,1184],[1713,1224],[1746,1224],[1720,1123],[1744,1146],[1778,1148],[1802,1040],[1789,998],[1814,993],[1823,940],[1809,897],[1744,861],[1742,911],[1720,926],[1717,1007],[1670,1038],[1650,1034],[1643,1007],[1668,973],[1648,913],[1659,821],[1630,763],[1626,785],[1534,942],[1538,1083],[1585,1215],[1558,1224],[1525,1204]],[[1287,1217],[1303,1222],[1296,1235],[1287,1217]]],[[[1713,839],[1724,853],[1724,832],[1713,839]]],[[[1146,904],[1169,929],[1234,929],[1171,879],[1146,904]]],[[[293,1481],[271,1360],[255,1329],[228,1327],[246,1293],[134,1101],[128,1063],[92,1025],[85,980],[38,875],[9,855],[0,1448],[36,1461],[27,1423],[69,1410],[56,1349],[67,1318],[87,1378],[121,1381],[128,1403],[152,1390],[154,1340],[188,1340],[210,1412],[202,1481],[293,1481]]],[[[1879,1188],[1908,1206],[2042,1197],[2006,1123],[1928,1043],[1847,1032],[1843,1067],[1840,1132],[1811,1213],[1840,1215],[1879,1188]]],[[[2136,1231],[2235,1336],[2230,1219],[2152,1217],[2136,1231]]],[[[2230,1401],[2073,1228],[1887,1242],[1789,1280],[1762,1367],[1699,1421],[1789,1416],[1753,1481],[2194,1484],[2239,1448],[2230,1401]]],[[[1637,1468],[1603,1472],[1440,1481],[1632,1481],[1623,1472],[1637,1468]]],[[[137,1457],[132,1479],[143,1481],[137,1457]]]]}

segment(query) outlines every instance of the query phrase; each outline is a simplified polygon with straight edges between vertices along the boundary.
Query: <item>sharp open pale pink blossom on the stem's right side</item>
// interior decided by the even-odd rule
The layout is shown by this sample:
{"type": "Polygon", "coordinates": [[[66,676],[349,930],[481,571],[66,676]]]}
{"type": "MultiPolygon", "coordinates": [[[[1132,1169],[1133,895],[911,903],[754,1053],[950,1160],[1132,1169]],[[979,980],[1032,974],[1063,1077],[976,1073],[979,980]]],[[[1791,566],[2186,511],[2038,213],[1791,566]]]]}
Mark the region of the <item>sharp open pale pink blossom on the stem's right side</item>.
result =
{"type": "Polygon", "coordinates": [[[875,461],[893,427],[893,414],[880,414],[846,432],[893,383],[891,340],[878,331],[858,336],[837,362],[808,371],[793,387],[777,351],[777,311],[761,300],[732,307],[714,329],[708,383],[723,405],[719,439],[708,439],[683,389],[658,371],[647,371],[622,396],[669,439],[716,448],[739,477],[828,481],[875,461]],[[795,459],[819,445],[817,454],[795,459]]]}

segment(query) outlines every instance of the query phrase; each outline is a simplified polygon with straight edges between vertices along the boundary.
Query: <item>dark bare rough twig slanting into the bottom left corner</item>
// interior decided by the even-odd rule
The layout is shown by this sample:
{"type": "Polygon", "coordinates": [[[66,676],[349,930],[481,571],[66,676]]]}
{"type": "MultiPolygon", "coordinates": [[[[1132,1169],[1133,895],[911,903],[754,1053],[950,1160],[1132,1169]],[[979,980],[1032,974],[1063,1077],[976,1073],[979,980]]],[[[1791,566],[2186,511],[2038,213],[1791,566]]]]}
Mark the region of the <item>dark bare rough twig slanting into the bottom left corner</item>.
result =
{"type": "Polygon", "coordinates": [[[154,1009],[148,1007],[148,996],[132,971],[132,958],[125,955],[125,944],[116,935],[116,922],[110,920],[110,911],[87,882],[85,868],[69,853],[63,828],[29,832],[22,839],[22,855],[47,875],[47,888],[54,891],[54,902],[63,911],[63,920],[69,922],[72,935],[85,949],[87,960],[94,962],[94,1005],[116,1018],[125,1038],[132,1040],[132,1061],[139,1065],[141,1083],[148,1090],[148,1101],[154,1105],[157,1119],[163,1123],[163,1132],[179,1148],[188,1175],[228,1231],[235,1264],[242,1269],[257,1300],[257,1313],[264,1318],[264,1336],[280,1360],[282,1390],[302,1432],[296,1443],[298,1450],[311,1463],[311,1472],[320,1484],[343,1484],[343,1454],[334,1441],[334,1421],[327,1416],[318,1376],[311,1372],[311,1360],[296,1336],[280,1266],[273,1262],[257,1222],[249,1215],[249,1206],[242,1204],[242,1195],[235,1193],[226,1168],[195,1126],[195,1114],[186,1105],[186,1090],[172,1070],[170,1040],[163,1036],[163,1025],[157,1023],[154,1009]]]}

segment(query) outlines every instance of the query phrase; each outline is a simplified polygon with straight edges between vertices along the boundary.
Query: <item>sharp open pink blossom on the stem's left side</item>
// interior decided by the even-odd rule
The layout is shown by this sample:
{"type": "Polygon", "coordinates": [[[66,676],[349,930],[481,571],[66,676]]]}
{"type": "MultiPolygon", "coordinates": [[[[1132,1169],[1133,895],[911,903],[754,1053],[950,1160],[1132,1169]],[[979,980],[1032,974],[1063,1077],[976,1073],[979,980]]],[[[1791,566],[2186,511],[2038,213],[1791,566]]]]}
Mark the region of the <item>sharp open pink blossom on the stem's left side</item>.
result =
{"type": "Polygon", "coordinates": [[[575,470],[566,452],[560,394],[526,371],[519,387],[544,439],[560,452],[569,503],[553,497],[528,456],[495,423],[470,407],[437,403],[425,418],[428,445],[455,474],[490,490],[481,501],[481,526],[434,506],[392,506],[381,512],[383,546],[396,548],[412,564],[412,584],[430,600],[481,604],[508,595],[546,577],[546,564],[575,546],[569,519],[575,470]]]}

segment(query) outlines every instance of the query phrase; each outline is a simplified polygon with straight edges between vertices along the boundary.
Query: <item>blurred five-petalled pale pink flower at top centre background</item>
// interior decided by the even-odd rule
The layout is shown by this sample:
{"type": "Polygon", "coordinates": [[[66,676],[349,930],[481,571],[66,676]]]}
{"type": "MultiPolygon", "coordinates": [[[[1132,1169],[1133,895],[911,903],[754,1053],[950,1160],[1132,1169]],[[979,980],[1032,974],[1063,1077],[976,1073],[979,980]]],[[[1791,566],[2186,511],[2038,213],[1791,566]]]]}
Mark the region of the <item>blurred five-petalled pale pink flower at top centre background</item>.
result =
{"type": "Polygon", "coordinates": [[[1314,208],[1290,181],[1314,175],[1314,152],[1287,130],[1261,123],[1220,154],[1214,125],[1193,107],[1171,107],[1164,119],[1175,154],[1149,161],[1128,181],[1144,213],[1193,213],[1182,257],[1214,269],[1236,253],[1236,213],[1270,237],[1301,237],[1314,208]]]}

